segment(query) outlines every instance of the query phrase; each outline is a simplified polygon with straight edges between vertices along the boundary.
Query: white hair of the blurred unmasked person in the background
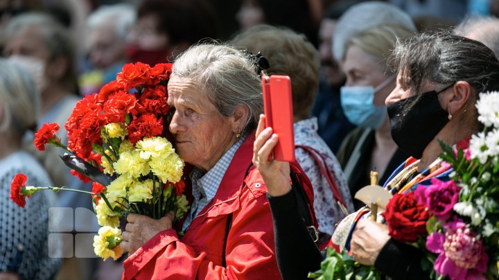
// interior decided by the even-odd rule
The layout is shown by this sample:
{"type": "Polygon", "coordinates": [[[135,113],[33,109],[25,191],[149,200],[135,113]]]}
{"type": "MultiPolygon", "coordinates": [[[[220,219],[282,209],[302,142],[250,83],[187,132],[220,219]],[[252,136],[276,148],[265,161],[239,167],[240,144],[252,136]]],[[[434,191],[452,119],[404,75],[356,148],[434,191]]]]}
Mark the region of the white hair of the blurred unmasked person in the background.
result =
{"type": "Polygon", "coordinates": [[[89,15],[87,25],[91,30],[113,26],[116,35],[125,40],[130,27],[135,22],[136,14],[134,6],[127,3],[101,6],[89,15]]]}

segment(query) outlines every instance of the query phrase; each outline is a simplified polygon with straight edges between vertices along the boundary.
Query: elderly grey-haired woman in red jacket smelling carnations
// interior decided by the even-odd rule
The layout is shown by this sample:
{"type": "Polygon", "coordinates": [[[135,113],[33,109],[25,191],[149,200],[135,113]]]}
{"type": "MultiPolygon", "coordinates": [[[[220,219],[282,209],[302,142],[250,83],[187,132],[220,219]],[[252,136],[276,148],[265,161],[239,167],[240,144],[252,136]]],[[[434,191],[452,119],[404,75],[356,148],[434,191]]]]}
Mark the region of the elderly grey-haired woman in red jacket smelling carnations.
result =
{"type": "MultiPolygon", "coordinates": [[[[128,216],[121,246],[133,254],[124,278],[279,279],[267,191],[252,166],[263,100],[251,55],[218,44],[191,47],[173,64],[168,104],[176,150],[193,166],[193,202],[177,229],[171,215],[128,216]]],[[[311,188],[306,179],[301,184],[311,188]]]]}

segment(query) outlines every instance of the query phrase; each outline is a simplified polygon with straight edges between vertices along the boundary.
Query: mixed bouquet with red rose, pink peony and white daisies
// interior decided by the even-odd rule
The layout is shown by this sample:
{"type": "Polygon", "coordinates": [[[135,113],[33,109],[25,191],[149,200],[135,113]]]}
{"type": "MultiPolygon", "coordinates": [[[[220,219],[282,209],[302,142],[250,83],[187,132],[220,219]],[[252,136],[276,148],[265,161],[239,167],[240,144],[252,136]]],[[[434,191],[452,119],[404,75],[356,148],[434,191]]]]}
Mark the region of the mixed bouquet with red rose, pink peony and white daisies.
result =
{"type": "MultiPolygon", "coordinates": [[[[440,142],[450,180],[397,193],[383,213],[389,235],[424,252],[432,279],[499,279],[499,92],[480,94],[478,121],[484,130],[455,148],[440,142]]],[[[319,279],[379,279],[347,252],[332,248],[319,279]]]]}

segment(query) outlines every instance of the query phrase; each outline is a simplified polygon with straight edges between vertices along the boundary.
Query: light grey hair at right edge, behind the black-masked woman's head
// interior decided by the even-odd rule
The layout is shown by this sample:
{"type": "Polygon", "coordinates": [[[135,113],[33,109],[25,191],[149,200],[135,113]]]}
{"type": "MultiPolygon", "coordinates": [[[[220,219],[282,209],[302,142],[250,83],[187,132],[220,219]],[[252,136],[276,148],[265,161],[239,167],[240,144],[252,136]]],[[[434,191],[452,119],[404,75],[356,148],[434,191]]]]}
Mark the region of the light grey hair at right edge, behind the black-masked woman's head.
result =
{"type": "Polygon", "coordinates": [[[499,58],[499,19],[497,17],[469,17],[456,26],[454,34],[482,42],[499,58]]]}

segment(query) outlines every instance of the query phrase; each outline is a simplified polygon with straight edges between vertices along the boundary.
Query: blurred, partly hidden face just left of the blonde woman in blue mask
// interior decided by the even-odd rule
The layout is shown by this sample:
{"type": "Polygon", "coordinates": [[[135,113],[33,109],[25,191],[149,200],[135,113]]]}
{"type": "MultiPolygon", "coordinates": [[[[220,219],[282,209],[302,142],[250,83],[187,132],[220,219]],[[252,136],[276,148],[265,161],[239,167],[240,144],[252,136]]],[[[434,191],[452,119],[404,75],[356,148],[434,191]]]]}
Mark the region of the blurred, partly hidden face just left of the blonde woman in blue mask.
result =
{"type": "Polygon", "coordinates": [[[344,74],[333,58],[333,33],[336,21],[333,19],[322,19],[319,27],[319,52],[321,55],[321,71],[329,85],[341,85],[344,74]]]}

